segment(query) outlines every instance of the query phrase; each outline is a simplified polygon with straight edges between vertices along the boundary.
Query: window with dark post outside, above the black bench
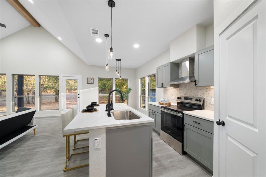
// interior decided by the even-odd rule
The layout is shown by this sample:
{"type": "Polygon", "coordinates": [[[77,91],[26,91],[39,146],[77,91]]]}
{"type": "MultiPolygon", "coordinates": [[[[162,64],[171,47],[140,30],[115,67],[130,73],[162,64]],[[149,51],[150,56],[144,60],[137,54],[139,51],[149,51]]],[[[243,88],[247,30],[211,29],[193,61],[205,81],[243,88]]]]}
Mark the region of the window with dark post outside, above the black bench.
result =
{"type": "Polygon", "coordinates": [[[35,76],[13,75],[13,111],[18,107],[35,109],[35,76]]]}

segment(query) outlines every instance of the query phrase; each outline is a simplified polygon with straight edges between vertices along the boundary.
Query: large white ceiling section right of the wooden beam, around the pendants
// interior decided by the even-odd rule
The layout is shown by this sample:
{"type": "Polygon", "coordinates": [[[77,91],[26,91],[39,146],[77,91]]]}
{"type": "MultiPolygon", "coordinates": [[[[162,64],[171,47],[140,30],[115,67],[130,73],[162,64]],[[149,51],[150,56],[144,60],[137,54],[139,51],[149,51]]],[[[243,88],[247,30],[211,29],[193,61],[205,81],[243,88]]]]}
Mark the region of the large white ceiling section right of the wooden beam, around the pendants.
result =
{"type": "MultiPolygon", "coordinates": [[[[20,0],[54,37],[88,65],[105,65],[106,38],[111,35],[111,8],[106,1],[20,0]],[[90,35],[100,30],[101,43],[90,35]]],[[[115,57],[124,68],[137,68],[170,47],[170,41],[193,27],[213,23],[213,1],[116,1],[113,8],[115,57]],[[139,48],[134,48],[137,43],[139,48]]],[[[110,48],[111,37],[108,38],[110,48]]],[[[108,62],[116,66],[115,61],[108,62]]]]}

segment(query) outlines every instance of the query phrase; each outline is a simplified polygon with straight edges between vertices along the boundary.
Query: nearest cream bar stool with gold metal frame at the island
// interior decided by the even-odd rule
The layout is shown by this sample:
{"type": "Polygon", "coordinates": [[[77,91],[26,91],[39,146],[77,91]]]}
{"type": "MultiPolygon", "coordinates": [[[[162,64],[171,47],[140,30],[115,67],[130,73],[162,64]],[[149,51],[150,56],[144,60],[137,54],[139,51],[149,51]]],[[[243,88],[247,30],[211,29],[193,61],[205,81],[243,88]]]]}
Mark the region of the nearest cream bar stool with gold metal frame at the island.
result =
{"type": "Polygon", "coordinates": [[[63,171],[69,171],[69,170],[73,170],[73,169],[89,166],[90,164],[87,163],[87,164],[84,164],[84,165],[78,165],[78,166],[74,166],[74,167],[71,167],[71,168],[67,168],[68,161],[70,160],[72,155],[79,155],[79,154],[83,154],[83,153],[89,153],[89,151],[84,151],[84,152],[80,152],[80,153],[70,154],[70,142],[69,142],[70,136],[87,134],[89,132],[88,131],[75,131],[75,132],[64,133],[64,128],[72,120],[72,109],[68,109],[67,111],[62,113],[61,114],[61,120],[62,120],[62,135],[63,135],[63,137],[66,137],[66,163],[65,163],[63,171]]]}

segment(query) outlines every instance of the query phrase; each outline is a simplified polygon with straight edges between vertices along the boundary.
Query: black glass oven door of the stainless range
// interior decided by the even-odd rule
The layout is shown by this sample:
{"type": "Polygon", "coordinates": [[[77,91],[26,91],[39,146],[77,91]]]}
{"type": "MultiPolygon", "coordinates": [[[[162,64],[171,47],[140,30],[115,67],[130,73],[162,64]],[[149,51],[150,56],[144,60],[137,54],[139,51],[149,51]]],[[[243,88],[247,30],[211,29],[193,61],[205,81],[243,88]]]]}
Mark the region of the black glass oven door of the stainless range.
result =
{"type": "Polygon", "coordinates": [[[161,130],[183,143],[183,114],[168,109],[161,110],[161,130]]]}

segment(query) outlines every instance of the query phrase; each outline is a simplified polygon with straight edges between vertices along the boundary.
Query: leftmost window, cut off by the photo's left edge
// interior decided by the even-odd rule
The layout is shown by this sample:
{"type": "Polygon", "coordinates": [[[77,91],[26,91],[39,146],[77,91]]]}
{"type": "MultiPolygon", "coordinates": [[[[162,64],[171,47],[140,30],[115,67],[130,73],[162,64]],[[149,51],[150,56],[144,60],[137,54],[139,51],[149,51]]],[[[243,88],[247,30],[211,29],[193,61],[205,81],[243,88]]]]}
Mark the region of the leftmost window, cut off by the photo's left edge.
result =
{"type": "Polygon", "coordinates": [[[0,74],[0,112],[7,112],[7,76],[0,74]]]}

